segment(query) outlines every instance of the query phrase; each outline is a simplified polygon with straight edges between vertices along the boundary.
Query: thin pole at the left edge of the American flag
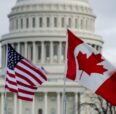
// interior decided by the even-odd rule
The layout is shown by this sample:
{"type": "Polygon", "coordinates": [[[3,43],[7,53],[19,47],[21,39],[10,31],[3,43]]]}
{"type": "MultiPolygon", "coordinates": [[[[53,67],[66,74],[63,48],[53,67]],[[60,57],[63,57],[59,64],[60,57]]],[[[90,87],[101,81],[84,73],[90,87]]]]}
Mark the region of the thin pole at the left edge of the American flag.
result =
{"type": "MultiPolygon", "coordinates": [[[[5,63],[5,72],[7,71],[7,51],[8,51],[8,44],[6,45],[6,63],[5,63]]],[[[7,73],[5,73],[6,75],[7,73]]],[[[6,76],[5,76],[5,81],[6,81],[6,76]]],[[[6,83],[6,82],[5,82],[6,83]]],[[[5,88],[5,91],[4,91],[4,99],[5,99],[5,102],[4,102],[4,112],[5,114],[8,114],[7,112],[7,90],[5,88]]]]}

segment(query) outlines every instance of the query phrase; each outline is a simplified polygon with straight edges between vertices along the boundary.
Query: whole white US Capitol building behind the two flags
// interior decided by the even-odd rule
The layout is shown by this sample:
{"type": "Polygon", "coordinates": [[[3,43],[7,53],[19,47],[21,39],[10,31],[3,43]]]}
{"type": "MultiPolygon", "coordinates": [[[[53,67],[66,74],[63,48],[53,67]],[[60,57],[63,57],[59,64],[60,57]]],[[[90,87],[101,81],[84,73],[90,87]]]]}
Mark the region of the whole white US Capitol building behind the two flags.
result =
{"type": "MultiPolygon", "coordinates": [[[[33,102],[18,100],[7,93],[8,114],[63,114],[66,25],[101,52],[103,41],[95,34],[96,16],[88,0],[17,0],[9,17],[9,33],[2,36],[2,67],[6,64],[6,44],[48,72],[48,81],[35,93],[33,102]]],[[[3,70],[3,69],[2,69],[3,70]]],[[[98,114],[89,106],[78,83],[66,82],[66,114],[98,114]]],[[[4,73],[0,76],[0,114],[4,112],[4,73]]]]}

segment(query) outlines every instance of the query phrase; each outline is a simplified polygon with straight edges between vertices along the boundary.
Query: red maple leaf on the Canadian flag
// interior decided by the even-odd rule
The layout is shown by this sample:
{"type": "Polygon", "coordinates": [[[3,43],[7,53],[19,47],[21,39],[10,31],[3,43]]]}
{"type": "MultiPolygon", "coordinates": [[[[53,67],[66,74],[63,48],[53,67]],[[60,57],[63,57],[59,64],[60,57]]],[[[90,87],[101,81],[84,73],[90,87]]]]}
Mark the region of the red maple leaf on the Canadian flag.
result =
{"type": "MultiPolygon", "coordinates": [[[[101,58],[101,54],[94,54],[92,53],[88,58],[86,54],[79,52],[77,56],[77,60],[79,63],[79,70],[83,70],[89,76],[91,73],[100,73],[103,74],[107,69],[103,67],[103,65],[99,65],[99,63],[103,62],[104,60],[101,58]]],[[[81,74],[82,76],[82,74],[81,74]]],[[[80,79],[81,79],[80,76],[80,79]]]]}

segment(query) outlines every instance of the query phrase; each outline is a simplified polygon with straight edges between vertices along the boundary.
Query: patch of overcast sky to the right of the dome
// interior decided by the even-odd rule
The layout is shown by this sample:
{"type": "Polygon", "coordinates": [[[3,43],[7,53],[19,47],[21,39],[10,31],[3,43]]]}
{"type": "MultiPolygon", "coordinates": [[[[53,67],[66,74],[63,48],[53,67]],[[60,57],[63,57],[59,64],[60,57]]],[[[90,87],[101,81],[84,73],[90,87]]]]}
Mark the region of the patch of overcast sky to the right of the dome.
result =
{"type": "Polygon", "coordinates": [[[116,0],[89,0],[96,19],[96,33],[104,40],[103,55],[116,66],[116,0]]]}

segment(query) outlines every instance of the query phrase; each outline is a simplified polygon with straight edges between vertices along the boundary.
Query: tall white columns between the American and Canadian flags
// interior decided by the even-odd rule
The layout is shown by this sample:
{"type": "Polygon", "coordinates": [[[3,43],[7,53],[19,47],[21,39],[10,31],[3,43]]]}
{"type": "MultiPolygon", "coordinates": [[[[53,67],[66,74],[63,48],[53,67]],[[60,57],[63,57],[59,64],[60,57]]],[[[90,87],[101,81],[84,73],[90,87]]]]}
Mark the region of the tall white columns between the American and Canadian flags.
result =
{"type": "MultiPolygon", "coordinates": [[[[45,63],[45,62],[47,62],[46,61],[46,52],[48,51],[48,49],[45,47],[45,42],[46,41],[41,41],[40,43],[41,43],[41,60],[39,61],[40,63],[45,63]]],[[[49,61],[49,63],[53,63],[54,61],[53,61],[53,50],[54,50],[54,48],[53,48],[53,44],[54,44],[54,42],[53,41],[51,41],[51,42],[49,42],[50,43],[50,61],[49,61]]],[[[65,54],[65,52],[64,52],[64,54],[62,54],[62,43],[63,42],[58,42],[58,63],[62,63],[62,62],[64,62],[64,60],[61,58],[62,56],[65,56],[64,54],[65,54]]],[[[28,51],[31,51],[31,50],[28,50],[28,45],[27,45],[28,43],[27,42],[25,42],[24,43],[24,45],[25,45],[25,54],[24,54],[24,56],[26,57],[26,58],[29,58],[29,54],[28,53],[30,53],[31,54],[31,52],[28,52],[28,51]]],[[[32,53],[32,55],[30,55],[30,56],[32,56],[32,58],[33,58],[33,63],[37,63],[37,54],[39,53],[38,52],[38,49],[37,49],[37,44],[36,44],[36,42],[32,42],[32,50],[33,50],[33,53],[32,53]]],[[[18,43],[18,49],[17,49],[17,51],[20,53],[20,43],[18,43]]],[[[30,58],[29,58],[30,59],[30,58]]]]}

